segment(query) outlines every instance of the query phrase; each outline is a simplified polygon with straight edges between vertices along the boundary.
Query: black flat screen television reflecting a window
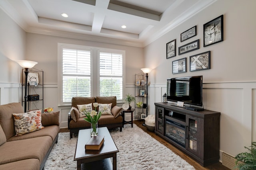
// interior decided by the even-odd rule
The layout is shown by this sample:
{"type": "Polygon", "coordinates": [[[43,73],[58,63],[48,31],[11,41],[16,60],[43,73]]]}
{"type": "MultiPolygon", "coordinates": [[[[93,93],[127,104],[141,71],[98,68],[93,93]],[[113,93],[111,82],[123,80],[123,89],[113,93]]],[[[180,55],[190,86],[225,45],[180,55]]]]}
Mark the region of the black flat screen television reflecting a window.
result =
{"type": "Polygon", "coordinates": [[[178,77],[167,79],[167,100],[184,102],[194,106],[202,103],[203,76],[178,77]]]}

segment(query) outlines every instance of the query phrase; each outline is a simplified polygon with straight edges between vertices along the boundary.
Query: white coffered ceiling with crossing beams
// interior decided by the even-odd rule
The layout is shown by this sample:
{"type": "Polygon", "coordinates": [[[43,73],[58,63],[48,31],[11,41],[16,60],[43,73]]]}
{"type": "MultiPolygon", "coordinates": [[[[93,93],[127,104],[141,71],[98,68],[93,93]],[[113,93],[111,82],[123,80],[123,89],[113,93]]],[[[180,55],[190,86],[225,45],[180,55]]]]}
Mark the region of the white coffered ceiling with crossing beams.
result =
{"type": "Polygon", "coordinates": [[[27,32],[144,47],[214,1],[0,0],[0,8],[27,32]]]}

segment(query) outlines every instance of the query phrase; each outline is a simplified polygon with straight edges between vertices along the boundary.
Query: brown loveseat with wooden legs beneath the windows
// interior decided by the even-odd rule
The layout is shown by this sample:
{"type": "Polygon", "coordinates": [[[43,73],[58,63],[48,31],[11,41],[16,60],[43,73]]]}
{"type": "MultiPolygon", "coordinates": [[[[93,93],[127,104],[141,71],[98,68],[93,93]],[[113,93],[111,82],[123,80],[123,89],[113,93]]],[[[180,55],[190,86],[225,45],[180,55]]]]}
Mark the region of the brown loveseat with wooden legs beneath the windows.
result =
{"type": "MultiPolygon", "coordinates": [[[[112,114],[101,115],[98,121],[98,127],[107,127],[108,129],[119,127],[120,132],[122,132],[123,118],[122,115],[120,115],[122,108],[116,106],[116,96],[73,97],[71,101],[72,108],[70,109],[70,113],[68,113],[68,129],[70,130],[70,139],[72,138],[73,133],[78,133],[80,129],[89,129],[91,127],[90,123],[84,120],[84,117],[79,117],[77,105],[93,104],[95,102],[98,104],[112,104],[112,114]]],[[[95,109],[93,105],[92,109],[95,109]]]]}

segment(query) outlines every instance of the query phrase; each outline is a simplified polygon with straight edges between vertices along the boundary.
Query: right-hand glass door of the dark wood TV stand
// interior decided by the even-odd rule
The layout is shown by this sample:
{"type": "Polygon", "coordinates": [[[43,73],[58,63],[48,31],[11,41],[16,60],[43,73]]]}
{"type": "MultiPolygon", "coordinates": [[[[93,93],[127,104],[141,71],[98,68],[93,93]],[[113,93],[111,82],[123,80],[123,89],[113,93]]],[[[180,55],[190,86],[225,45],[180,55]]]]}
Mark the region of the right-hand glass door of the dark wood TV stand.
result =
{"type": "Polygon", "coordinates": [[[197,127],[197,117],[193,117],[190,115],[187,115],[187,149],[190,150],[190,152],[193,152],[196,154],[198,152],[198,127],[197,127]]]}

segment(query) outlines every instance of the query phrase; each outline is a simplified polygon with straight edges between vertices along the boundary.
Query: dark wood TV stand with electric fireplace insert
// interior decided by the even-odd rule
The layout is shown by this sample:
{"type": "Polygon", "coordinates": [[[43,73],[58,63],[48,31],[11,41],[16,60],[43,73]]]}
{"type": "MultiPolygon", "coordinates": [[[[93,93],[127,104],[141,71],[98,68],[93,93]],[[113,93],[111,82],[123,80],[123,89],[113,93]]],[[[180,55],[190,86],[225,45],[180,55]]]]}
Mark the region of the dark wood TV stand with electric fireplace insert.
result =
{"type": "Polygon", "coordinates": [[[155,133],[202,166],[220,158],[220,112],[155,103],[155,133]]]}

